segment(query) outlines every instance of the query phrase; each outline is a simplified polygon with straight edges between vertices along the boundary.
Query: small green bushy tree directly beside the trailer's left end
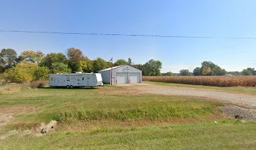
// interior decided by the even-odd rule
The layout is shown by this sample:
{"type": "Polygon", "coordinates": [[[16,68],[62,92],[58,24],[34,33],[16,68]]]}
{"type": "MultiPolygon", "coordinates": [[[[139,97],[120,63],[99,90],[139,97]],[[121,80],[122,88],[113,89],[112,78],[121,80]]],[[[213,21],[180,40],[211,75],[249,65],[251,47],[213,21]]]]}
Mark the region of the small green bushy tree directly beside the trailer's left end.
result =
{"type": "Polygon", "coordinates": [[[33,80],[48,80],[49,69],[47,67],[36,66],[33,73],[33,80]]]}

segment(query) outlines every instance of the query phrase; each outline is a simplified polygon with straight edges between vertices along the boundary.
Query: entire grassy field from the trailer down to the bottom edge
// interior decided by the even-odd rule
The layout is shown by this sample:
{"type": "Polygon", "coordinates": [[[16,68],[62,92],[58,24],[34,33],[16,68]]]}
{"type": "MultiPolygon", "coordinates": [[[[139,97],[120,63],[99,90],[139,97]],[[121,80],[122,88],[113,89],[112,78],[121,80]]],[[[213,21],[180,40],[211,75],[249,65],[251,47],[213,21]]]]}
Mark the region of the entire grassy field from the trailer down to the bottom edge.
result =
{"type": "Polygon", "coordinates": [[[59,121],[53,133],[16,134],[0,140],[0,149],[253,149],[256,146],[255,123],[227,119],[218,108],[223,104],[204,99],[138,95],[112,86],[24,88],[0,96],[0,114],[14,116],[0,128],[0,133],[33,129],[51,119],[59,121]]]}

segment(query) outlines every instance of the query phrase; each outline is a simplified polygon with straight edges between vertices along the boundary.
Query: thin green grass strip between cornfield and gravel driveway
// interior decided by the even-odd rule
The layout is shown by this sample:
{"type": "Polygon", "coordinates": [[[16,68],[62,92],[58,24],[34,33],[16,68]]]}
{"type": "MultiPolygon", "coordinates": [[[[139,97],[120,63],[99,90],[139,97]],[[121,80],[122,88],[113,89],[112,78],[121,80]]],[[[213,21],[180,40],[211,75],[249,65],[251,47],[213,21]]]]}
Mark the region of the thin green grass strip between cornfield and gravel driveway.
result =
{"type": "Polygon", "coordinates": [[[176,86],[181,88],[211,89],[211,90],[233,92],[233,93],[256,94],[256,88],[248,88],[248,87],[199,86],[199,85],[191,85],[191,84],[158,83],[158,82],[151,82],[151,81],[143,81],[143,83],[154,84],[159,86],[176,86]]]}

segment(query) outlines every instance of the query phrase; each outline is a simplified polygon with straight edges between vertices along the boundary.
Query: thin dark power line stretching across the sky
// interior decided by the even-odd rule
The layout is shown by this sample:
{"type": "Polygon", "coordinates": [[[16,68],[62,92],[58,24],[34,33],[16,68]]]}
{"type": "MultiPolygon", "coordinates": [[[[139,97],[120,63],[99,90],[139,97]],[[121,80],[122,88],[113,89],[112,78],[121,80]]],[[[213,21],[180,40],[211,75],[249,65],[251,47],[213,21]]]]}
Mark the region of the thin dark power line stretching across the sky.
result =
{"type": "Polygon", "coordinates": [[[200,38],[200,39],[256,39],[256,37],[163,36],[163,35],[151,35],[151,34],[107,34],[107,33],[88,33],[88,32],[49,32],[49,31],[18,31],[18,30],[0,30],[0,32],[24,32],[24,33],[42,33],[42,34],[78,34],[78,35],[95,35],[95,36],[141,36],[141,37],[200,38]]]}

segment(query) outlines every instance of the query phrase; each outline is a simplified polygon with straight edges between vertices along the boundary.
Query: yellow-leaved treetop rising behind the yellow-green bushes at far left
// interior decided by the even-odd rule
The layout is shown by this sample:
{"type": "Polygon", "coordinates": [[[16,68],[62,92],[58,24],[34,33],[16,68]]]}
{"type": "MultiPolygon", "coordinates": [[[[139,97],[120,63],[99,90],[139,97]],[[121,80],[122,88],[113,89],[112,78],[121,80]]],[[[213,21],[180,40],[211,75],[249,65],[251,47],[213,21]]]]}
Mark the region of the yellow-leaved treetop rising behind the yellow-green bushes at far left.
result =
{"type": "Polygon", "coordinates": [[[23,51],[23,53],[21,53],[21,58],[29,63],[40,63],[43,56],[45,56],[45,54],[41,51],[23,51]]]}

